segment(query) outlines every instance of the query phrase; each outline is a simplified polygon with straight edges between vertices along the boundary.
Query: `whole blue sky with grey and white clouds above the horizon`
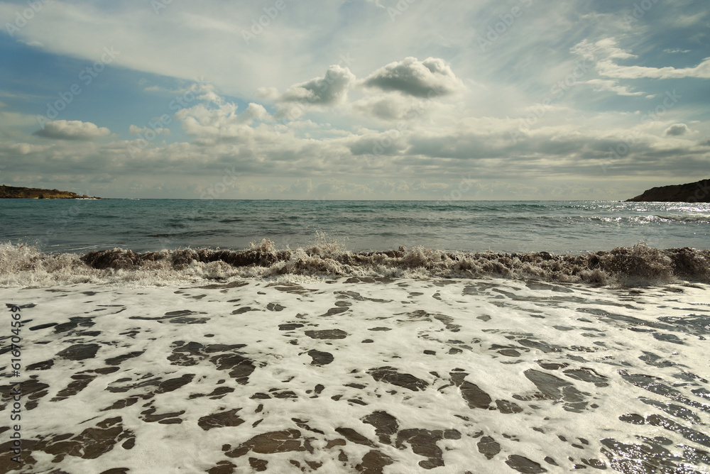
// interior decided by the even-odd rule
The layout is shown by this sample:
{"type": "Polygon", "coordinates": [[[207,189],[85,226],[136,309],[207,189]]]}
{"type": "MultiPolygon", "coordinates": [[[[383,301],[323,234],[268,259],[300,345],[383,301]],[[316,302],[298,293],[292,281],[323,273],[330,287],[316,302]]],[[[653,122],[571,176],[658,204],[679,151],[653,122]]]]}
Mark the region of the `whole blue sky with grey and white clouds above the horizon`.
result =
{"type": "Polygon", "coordinates": [[[710,177],[704,0],[0,1],[0,184],[627,199],[710,177]]]}

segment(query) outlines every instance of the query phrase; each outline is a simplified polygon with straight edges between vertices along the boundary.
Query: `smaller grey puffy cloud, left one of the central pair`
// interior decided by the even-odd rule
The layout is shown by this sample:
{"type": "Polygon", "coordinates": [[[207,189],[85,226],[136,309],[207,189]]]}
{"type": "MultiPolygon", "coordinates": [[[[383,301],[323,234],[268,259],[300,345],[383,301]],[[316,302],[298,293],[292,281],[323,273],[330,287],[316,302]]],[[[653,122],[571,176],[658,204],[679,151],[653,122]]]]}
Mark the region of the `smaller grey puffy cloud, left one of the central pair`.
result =
{"type": "Polygon", "coordinates": [[[279,100],[315,105],[333,104],[345,99],[354,82],[355,75],[347,67],[332,65],[324,77],[314,77],[289,87],[279,100]]]}

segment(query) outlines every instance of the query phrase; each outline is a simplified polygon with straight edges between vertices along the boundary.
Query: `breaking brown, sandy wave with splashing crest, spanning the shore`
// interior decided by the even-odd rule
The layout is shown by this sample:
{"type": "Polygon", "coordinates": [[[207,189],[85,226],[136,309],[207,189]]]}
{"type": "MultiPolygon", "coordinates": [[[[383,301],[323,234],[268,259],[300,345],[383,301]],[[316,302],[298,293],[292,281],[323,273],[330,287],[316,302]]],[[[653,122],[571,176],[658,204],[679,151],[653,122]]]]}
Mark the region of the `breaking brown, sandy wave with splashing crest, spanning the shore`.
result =
{"type": "Polygon", "coordinates": [[[504,277],[589,285],[657,285],[679,280],[710,283],[710,250],[660,250],[637,244],[584,255],[464,253],[415,247],[351,252],[337,242],[277,249],[264,239],[244,250],[209,248],[136,253],[123,248],[41,253],[0,244],[0,285],[53,286],[82,282],[168,285],[230,277],[504,277]]]}

